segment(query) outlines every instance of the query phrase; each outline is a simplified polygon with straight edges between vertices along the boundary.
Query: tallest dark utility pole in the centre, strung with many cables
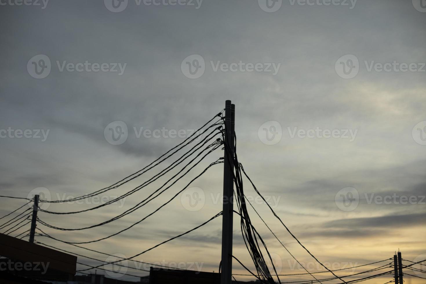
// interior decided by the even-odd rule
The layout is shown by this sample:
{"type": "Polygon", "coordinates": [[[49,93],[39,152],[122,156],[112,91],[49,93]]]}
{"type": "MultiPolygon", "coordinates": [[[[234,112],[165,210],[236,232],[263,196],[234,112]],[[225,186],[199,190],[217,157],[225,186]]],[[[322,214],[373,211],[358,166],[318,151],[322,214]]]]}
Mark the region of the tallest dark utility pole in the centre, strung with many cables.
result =
{"type": "Polygon", "coordinates": [[[222,215],[222,272],[221,284],[232,283],[232,231],[233,231],[233,157],[235,151],[235,105],[225,102],[225,135],[223,167],[223,215],[222,215]]]}

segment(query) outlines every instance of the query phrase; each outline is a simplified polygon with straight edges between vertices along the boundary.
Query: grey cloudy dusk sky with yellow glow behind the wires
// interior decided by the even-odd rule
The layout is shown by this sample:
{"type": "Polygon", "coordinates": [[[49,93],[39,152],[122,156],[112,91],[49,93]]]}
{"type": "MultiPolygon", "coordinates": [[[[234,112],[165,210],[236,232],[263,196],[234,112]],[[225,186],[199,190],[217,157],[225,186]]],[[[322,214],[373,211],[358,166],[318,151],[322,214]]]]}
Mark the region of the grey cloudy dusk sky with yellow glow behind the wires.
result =
{"type": "MultiPolygon", "coordinates": [[[[183,141],[230,99],[236,104],[239,161],[320,261],[340,269],[391,258],[398,249],[405,259],[425,259],[426,3],[420,1],[0,0],[1,193],[27,197],[41,190],[44,198],[64,200],[107,187],[183,141]],[[123,133],[114,134],[118,141],[112,138],[116,131],[123,133]]],[[[219,148],[147,206],[102,227],[71,232],[38,227],[64,241],[103,238],[151,213],[220,156],[219,148]]],[[[52,204],[48,210],[95,207],[176,158],[105,192],[104,201],[52,204]]],[[[39,217],[65,228],[98,224],[147,198],[177,172],[123,203],[39,217]]],[[[213,166],[190,184],[192,191],[146,221],[83,246],[130,257],[192,229],[222,210],[222,175],[223,165],[213,166]],[[185,203],[188,196],[201,196],[198,210],[185,203]]],[[[310,271],[323,271],[256,201],[248,181],[245,187],[288,250],[310,271]]],[[[0,202],[2,215],[23,204],[0,202]]],[[[249,210],[281,273],[303,273],[249,210]]],[[[46,237],[36,240],[106,260],[46,237]]],[[[189,269],[197,269],[196,263],[217,272],[220,244],[217,218],[136,259],[189,269]]],[[[233,252],[254,268],[236,218],[233,252]]],[[[82,268],[87,267],[78,265],[82,268]]],[[[247,273],[236,263],[233,272],[247,273]]],[[[366,282],[390,280],[385,275],[366,282]]]]}

